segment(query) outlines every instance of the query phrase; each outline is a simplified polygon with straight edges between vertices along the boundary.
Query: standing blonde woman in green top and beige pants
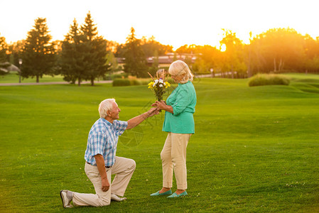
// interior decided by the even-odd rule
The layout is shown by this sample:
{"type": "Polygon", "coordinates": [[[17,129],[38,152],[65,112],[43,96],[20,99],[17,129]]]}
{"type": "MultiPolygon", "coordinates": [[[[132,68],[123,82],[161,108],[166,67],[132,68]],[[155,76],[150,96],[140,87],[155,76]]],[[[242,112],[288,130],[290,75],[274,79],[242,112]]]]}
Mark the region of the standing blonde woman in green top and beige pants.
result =
{"type": "Polygon", "coordinates": [[[195,133],[193,113],[196,105],[196,92],[193,86],[193,74],[188,65],[177,60],[171,64],[169,74],[178,87],[174,89],[166,103],[156,102],[153,107],[166,111],[163,131],[168,132],[161,160],[163,168],[163,188],[151,196],[170,195],[180,197],[187,195],[186,147],[190,136],[195,133]],[[173,170],[177,190],[172,194],[173,170]]]}

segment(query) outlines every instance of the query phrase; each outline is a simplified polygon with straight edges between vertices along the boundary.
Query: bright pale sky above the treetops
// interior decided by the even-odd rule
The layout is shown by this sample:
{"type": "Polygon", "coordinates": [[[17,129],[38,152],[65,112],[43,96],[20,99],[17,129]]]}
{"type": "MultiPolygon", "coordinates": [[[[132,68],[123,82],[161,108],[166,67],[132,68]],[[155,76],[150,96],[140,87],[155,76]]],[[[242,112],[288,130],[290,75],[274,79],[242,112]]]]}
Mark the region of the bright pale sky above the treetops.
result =
{"type": "Polygon", "coordinates": [[[125,43],[152,35],[163,45],[220,47],[222,28],[249,43],[270,28],[293,28],[319,36],[318,0],[0,0],[0,36],[6,43],[25,39],[36,18],[46,18],[53,40],[63,40],[74,18],[81,25],[90,11],[99,35],[125,43]]]}

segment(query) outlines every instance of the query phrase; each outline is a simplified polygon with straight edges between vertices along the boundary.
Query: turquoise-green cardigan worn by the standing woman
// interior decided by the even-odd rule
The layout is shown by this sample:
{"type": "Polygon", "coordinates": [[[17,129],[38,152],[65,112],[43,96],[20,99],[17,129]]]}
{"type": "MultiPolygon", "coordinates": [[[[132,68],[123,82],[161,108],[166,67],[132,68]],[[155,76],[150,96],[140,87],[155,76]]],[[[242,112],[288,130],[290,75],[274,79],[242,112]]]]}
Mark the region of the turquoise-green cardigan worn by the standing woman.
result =
{"type": "Polygon", "coordinates": [[[196,105],[196,92],[192,82],[178,84],[166,100],[173,107],[173,114],[166,111],[163,131],[172,133],[195,133],[193,113],[196,105]]]}

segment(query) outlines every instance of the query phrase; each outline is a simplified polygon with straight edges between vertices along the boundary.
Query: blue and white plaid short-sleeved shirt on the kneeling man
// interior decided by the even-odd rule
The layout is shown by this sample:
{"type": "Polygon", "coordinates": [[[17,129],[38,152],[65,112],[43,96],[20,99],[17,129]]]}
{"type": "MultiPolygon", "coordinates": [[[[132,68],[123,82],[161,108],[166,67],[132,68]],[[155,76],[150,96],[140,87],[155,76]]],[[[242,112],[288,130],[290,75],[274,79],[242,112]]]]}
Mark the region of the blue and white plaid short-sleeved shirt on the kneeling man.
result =
{"type": "Polygon", "coordinates": [[[85,160],[91,165],[97,165],[94,155],[100,154],[104,158],[105,166],[112,166],[117,153],[117,141],[127,127],[126,121],[98,119],[92,126],[87,138],[85,160]]]}

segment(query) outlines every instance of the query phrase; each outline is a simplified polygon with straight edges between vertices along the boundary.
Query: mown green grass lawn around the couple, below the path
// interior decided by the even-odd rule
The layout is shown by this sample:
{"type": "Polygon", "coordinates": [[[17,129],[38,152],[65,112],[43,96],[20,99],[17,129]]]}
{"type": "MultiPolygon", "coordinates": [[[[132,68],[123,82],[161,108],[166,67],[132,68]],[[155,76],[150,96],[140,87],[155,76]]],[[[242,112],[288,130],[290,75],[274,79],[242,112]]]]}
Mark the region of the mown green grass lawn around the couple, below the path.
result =
{"type": "MultiPolygon", "coordinates": [[[[117,155],[136,161],[127,200],[65,212],[319,212],[319,77],[288,76],[289,86],[195,80],[188,196],[149,196],[161,189],[162,113],[120,138],[117,155]]],[[[60,190],[94,193],[87,134],[110,97],[121,120],[154,99],[147,86],[0,87],[0,212],[60,212],[60,190]]]]}

